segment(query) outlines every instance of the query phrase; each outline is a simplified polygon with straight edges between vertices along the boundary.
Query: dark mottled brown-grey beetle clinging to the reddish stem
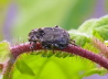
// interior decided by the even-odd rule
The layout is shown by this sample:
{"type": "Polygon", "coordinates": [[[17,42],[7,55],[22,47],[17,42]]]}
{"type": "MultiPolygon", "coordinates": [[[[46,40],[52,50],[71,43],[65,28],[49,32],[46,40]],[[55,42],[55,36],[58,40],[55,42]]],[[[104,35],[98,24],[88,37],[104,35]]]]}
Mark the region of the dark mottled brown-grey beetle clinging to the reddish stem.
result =
{"type": "Polygon", "coordinates": [[[67,31],[55,25],[55,27],[41,27],[34,29],[29,33],[29,42],[31,49],[33,49],[36,43],[40,43],[43,48],[65,48],[68,44],[72,44],[72,40],[67,31]]]}

